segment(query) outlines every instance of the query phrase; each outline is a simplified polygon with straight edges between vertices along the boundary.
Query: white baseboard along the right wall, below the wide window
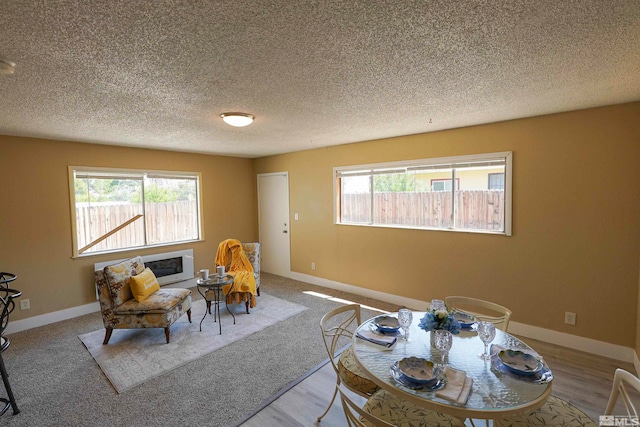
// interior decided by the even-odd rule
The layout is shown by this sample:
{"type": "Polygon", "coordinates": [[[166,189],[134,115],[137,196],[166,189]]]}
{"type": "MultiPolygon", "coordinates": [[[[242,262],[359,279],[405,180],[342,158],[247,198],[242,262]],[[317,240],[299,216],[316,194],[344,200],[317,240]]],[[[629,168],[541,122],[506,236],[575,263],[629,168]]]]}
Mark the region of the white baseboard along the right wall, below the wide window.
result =
{"type": "MultiPolygon", "coordinates": [[[[425,311],[428,307],[427,301],[400,297],[397,295],[387,294],[385,292],[373,291],[370,289],[360,288],[345,283],[335,282],[333,280],[323,279],[321,277],[310,276],[307,274],[291,272],[292,279],[302,282],[311,283],[313,285],[323,286],[325,288],[336,289],[339,291],[349,292],[364,297],[374,298],[380,301],[405,306],[413,310],[425,311]]],[[[604,341],[597,341],[591,338],[579,337],[564,332],[544,329],[537,326],[526,325],[524,323],[509,322],[509,333],[520,335],[527,338],[533,338],[550,344],[556,344],[562,347],[580,350],[598,356],[608,357],[627,363],[633,363],[636,372],[640,372],[640,360],[635,349],[624,347],[617,344],[611,344],[604,341]]]]}

